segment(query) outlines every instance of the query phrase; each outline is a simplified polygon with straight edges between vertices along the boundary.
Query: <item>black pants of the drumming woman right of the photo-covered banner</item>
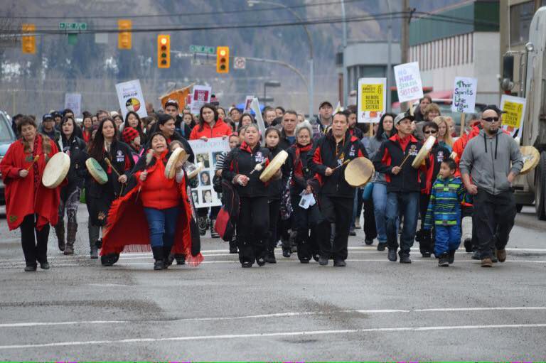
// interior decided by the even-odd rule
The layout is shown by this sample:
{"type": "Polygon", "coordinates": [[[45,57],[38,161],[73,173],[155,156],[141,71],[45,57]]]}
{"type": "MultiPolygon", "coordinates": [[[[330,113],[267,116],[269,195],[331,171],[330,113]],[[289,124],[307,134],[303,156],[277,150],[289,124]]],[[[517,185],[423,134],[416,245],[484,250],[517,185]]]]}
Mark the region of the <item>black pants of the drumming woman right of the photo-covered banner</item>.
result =
{"type": "Polygon", "coordinates": [[[265,256],[269,234],[269,205],[267,197],[241,197],[237,221],[239,261],[253,263],[265,256]]]}

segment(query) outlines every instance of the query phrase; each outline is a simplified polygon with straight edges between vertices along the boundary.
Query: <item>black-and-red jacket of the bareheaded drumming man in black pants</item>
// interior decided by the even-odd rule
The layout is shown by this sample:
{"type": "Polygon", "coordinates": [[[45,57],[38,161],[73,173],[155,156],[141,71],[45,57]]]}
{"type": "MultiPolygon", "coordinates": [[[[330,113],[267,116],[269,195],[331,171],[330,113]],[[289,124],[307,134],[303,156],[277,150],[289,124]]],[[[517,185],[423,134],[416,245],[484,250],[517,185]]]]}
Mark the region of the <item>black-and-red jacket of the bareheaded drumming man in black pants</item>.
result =
{"type": "Polygon", "coordinates": [[[336,197],[355,197],[355,188],[348,185],[345,180],[346,166],[334,170],[330,176],[326,176],[326,168],[336,168],[344,161],[361,156],[368,158],[368,153],[366,153],[363,143],[355,136],[350,136],[349,131],[346,132],[345,139],[340,143],[336,143],[331,130],[328,131],[328,134],[321,136],[316,141],[314,151],[307,154],[308,165],[311,166],[311,170],[316,174],[321,184],[320,193],[336,197]]]}

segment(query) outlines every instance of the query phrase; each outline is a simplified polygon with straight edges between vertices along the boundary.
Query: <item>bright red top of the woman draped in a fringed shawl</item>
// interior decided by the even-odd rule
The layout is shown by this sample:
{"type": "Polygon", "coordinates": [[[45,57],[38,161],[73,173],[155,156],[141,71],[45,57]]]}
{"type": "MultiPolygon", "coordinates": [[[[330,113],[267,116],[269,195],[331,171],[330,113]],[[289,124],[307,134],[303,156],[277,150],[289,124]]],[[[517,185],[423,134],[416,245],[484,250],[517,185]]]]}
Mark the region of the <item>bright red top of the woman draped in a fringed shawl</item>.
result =
{"type": "Polygon", "coordinates": [[[144,207],[166,210],[179,204],[180,195],[176,180],[165,178],[165,166],[162,160],[165,158],[166,153],[167,151],[164,151],[161,156],[154,156],[157,160],[153,166],[147,169],[148,176],[146,180],[140,180],[141,171],[134,173],[139,185],[141,185],[140,195],[144,207]]]}

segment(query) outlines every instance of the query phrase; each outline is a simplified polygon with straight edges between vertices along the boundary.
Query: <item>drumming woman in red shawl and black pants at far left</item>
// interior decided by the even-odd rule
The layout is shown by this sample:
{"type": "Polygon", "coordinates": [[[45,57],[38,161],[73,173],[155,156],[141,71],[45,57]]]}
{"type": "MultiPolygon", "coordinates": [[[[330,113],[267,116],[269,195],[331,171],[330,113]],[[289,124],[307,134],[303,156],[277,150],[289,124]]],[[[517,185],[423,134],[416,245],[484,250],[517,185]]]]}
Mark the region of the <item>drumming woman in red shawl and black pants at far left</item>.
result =
{"type": "Polygon", "coordinates": [[[60,187],[45,188],[42,175],[45,164],[58,149],[55,141],[36,132],[31,117],[20,119],[17,130],[21,139],[9,146],[0,163],[6,184],[8,226],[10,230],[21,228],[25,271],[36,271],[36,262],[47,270],[49,225],[58,222],[60,187]]]}

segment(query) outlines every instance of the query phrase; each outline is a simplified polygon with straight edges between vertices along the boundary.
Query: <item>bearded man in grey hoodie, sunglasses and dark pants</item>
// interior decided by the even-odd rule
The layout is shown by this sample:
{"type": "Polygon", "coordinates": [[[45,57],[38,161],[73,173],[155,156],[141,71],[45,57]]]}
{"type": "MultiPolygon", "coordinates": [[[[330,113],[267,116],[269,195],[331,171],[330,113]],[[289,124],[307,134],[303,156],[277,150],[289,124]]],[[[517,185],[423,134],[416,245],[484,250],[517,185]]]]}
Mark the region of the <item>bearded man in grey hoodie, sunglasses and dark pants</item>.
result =
{"type": "Polygon", "coordinates": [[[495,248],[498,261],[506,260],[505,246],[516,213],[512,182],[523,168],[518,143],[501,129],[501,113],[494,105],[483,110],[483,129],[466,144],[459,164],[464,186],[473,195],[482,267],[493,266],[495,248]]]}

